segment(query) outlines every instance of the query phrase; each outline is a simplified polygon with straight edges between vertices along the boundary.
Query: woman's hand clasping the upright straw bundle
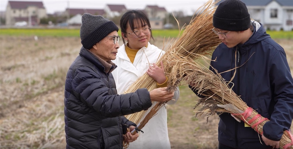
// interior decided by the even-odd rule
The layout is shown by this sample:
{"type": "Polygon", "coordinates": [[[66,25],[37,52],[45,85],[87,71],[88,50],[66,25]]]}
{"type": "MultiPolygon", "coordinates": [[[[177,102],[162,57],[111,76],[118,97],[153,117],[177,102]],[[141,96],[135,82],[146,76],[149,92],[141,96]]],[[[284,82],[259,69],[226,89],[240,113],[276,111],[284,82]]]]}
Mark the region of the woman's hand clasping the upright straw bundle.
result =
{"type": "Polygon", "coordinates": [[[166,75],[164,73],[164,65],[161,61],[161,67],[157,66],[156,63],[153,63],[154,66],[149,66],[147,74],[156,80],[159,84],[162,84],[166,81],[166,75]]]}

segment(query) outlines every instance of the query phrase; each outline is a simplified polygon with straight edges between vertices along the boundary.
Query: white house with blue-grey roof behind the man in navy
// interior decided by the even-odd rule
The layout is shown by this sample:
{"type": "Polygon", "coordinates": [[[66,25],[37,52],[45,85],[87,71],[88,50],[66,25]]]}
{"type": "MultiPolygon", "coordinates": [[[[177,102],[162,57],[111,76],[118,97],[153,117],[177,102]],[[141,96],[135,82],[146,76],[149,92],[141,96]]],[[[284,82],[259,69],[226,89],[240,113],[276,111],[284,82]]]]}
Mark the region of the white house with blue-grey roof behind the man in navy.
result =
{"type": "Polygon", "coordinates": [[[265,29],[293,30],[292,0],[241,1],[246,4],[250,18],[262,23],[265,29]]]}

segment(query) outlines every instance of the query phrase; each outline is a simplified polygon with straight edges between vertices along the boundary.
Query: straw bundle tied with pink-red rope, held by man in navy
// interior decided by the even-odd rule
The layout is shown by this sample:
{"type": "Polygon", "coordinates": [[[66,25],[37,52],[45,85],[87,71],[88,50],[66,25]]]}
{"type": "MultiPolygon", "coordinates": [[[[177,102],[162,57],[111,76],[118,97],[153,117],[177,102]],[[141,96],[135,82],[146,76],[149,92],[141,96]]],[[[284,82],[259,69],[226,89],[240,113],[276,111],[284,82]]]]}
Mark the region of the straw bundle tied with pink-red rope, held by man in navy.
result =
{"type": "MultiPolygon", "coordinates": [[[[201,56],[205,57],[205,56],[201,56]]],[[[241,98],[229,88],[219,73],[214,74],[209,68],[200,63],[196,63],[190,58],[179,56],[173,61],[168,61],[173,66],[169,77],[169,85],[176,86],[178,81],[186,80],[194,84],[194,90],[206,96],[198,101],[197,106],[201,109],[196,112],[196,117],[203,113],[208,117],[216,112],[228,112],[236,119],[241,119],[251,126],[259,134],[263,133],[263,126],[269,120],[262,117],[255,110],[248,107],[241,98]],[[182,58],[182,59],[180,59],[182,58]]],[[[239,121],[240,122],[240,121],[239,121]]],[[[281,149],[293,149],[293,138],[289,131],[284,131],[280,140],[281,149]]]]}

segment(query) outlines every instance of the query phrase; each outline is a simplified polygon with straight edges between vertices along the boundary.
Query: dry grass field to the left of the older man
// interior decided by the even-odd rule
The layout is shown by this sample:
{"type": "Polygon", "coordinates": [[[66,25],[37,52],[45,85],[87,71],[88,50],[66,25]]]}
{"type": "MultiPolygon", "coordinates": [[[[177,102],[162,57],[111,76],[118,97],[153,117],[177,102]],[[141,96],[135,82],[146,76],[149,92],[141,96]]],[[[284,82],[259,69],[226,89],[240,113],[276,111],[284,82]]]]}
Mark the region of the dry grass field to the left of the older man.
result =
{"type": "Polygon", "coordinates": [[[64,80],[79,38],[1,36],[0,42],[0,148],[59,148],[64,80]]]}

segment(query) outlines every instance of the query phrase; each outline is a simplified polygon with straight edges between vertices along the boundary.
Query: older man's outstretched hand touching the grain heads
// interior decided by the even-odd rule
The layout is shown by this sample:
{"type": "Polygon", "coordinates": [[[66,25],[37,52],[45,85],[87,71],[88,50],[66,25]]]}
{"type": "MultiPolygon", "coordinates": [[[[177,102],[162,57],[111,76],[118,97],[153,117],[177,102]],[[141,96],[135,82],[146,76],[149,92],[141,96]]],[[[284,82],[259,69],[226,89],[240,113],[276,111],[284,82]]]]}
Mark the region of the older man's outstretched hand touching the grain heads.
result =
{"type": "Polygon", "coordinates": [[[151,97],[151,101],[157,102],[165,102],[172,99],[174,96],[174,91],[166,91],[165,88],[156,88],[149,92],[149,96],[151,97]]]}

